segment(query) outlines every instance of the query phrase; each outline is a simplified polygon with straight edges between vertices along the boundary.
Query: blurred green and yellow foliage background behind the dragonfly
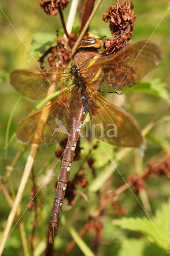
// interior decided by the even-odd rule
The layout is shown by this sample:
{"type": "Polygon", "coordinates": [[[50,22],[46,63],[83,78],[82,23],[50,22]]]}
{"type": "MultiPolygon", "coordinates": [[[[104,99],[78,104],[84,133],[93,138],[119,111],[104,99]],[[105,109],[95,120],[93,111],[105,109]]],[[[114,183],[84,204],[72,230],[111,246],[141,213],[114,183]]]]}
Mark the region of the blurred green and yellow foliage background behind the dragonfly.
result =
{"type": "MultiPolygon", "coordinates": [[[[158,68],[148,74],[136,86],[125,90],[123,96],[114,95],[111,98],[112,102],[115,102],[115,104],[123,107],[130,114],[132,114],[132,116],[134,116],[141,129],[145,128],[148,124],[150,124],[150,122],[153,121],[153,127],[146,135],[147,149],[145,151],[145,156],[142,163],[140,163],[138,160],[138,150],[129,150],[127,153],[125,153],[125,156],[121,158],[119,155],[121,149],[102,143],[103,147],[113,161],[120,156],[120,160],[117,161],[116,164],[125,180],[127,180],[128,174],[143,171],[148,164],[152,164],[154,161],[159,160],[166,154],[170,153],[170,99],[168,96],[168,90],[170,88],[168,83],[170,80],[170,12],[164,16],[168,10],[168,3],[168,0],[133,1],[136,21],[134,23],[134,37],[130,43],[132,44],[133,42],[137,42],[139,40],[147,40],[154,32],[150,40],[161,46],[163,58],[158,68]],[[160,22],[161,19],[162,21],[160,22]],[[158,24],[159,26],[156,28],[158,24]]],[[[99,36],[111,36],[109,23],[105,23],[102,20],[105,9],[108,10],[111,4],[113,4],[113,2],[110,0],[102,2],[99,10],[91,22],[89,29],[90,32],[93,32],[99,36]]],[[[67,20],[69,6],[63,11],[65,20],[67,20]]],[[[11,0],[1,3],[0,7],[3,9],[6,16],[16,29],[15,31],[9,20],[4,16],[2,10],[0,10],[0,175],[4,176],[6,174],[6,166],[10,166],[14,156],[16,156],[16,153],[21,148],[21,144],[16,142],[14,139],[8,148],[4,149],[5,141],[7,144],[6,134],[8,134],[8,120],[18,98],[20,97],[18,92],[16,92],[9,84],[9,74],[16,68],[38,69],[34,59],[31,58],[29,62],[27,61],[29,58],[29,53],[26,46],[28,48],[31,47],[33,34],[40,35],[41,32],[48,33],[46,36],[55,35],[55,30],[61,28],[61,22],[59,15],[47,16],[43,12],[43,9],[40,8],[39,1],[11,0]],[[24,43],[18,35],[22,38],[24,43]]],[[[74,28],[79,26],[79,19],[80,14],[77,11],[74,28]]],[[[40,39],[41,38],[38,40],[40,41],[40,39]]],[[[38,60],[39,56],[36,55],[35,58],[38,60]]],[[[46,66],[48,66],[47,62],[46,66]]],[[[20,99],[12,116],[8,134],[8,142],[15,133],[16,126],[20,120],[29,114],[38,103],[39,101],[33,101],[24,97],[20,99]]],[[[88,118],[89,117],[87,116],[87,119],[88,118]]],[[[87,123],[88,121],[86,120],[85,122],[87,123]]],[[[71,168],[70,174],[70,179],[72,180],[79,167],[81,166],[83,168],[83,172],[85,173],[85,176],[89,182],[89,186],[81,190],[87,195],[88,203],[86,203],[83,198],[78,197],[74,206],[67,206],[67,202],[65,201],[62,208],[62,212],[65,215],[66,220],[73,225],[77,232],[81,230],[85,221],[88,220],[88,216],[91,214],[93,215],[93,212],[95,212],[99,206],[99,198],[97,193],[94,191],[99,189],[100,194],[103,193],[103,188],[105,188],[105,174],[108,172],[111,174],[112,190],[115,190],[124,184],[124,180],[121,178],[120,174],[117,171],[114,172],[114,166],[101,146],[99,146],[96,150],[92,150],[90,155],[95,160],[94,169],[97,176],[99,175],[98,177],[100,179],[97,180],[97,178],[93,177],[92,171],[90,170],[87,162],[84,160],[88,158],[89,152],[96,142],[96,138],[93,138],[91,142],[89,142],[86,138],[82,138],[82,158],[78,162],[73,163],[73,168],[71,168]],[[84,164],[83,161],[85,162],[84,164]]],[[[45,177],[56,162],[56,158],[54,156],[54,150],[56,150],[56,148],[58,148],[58,145],[55,144],[40,145],[34,162],[34,173],[36,175],[36,185],[38,188],[41,186],[42,182],[45,180],[45,177]]],[[[9,193],[12,196],[14,196],[14,194],[17,192],[29,150],[30,146],[28,146],[18,160],[6,184],[9,193]]],[[[57,180],[60,165],[61,162],[59,162],[54,168],[53,172],[51,172],[49,178],[45,181],[45,184],[43,184],[42,189],[38,193],[38,228],[36,228],[34,238],[35,256],[43,255],[45,250],[48,221],[54,196],[53,187],[57,180]]],[[[166,228],[168,224],[170,225],[170,202],[168,201],[168,197],[170,196],[170,180],[168,180],[166,176],[154,176],[151,180],[147,181],[147,185],[148,186],[145,192],[152,209],[152,211],[149,212],[149,216],[154,218],[154,216],[157,214],[156,216],[158,218],[159,214],[156,211],[158,211],[159,208],[162,209],[162,212],[160,210],[162,213],[162,215],[160,213],[162,216],[162,224],[160,223],[160,220],[158,220],[160,225],[159,228],[161,230],[160,233],[163,237],[165,237],[164,239],[170,245],[170,231],[168,231],[166,228]],[[166,211],[163,210],[165,208],[162,208],[164,203],[166,203],[164,206],[167,207],[166,211]],[[164,212],[167,213],[168,209],[169,212],[165,217],[164,212]],[[164,223],[165,220],[166,223],[164,223]]],[[[26,205],[30,200],[30,191],[32,186],[32,178],[30,178],[20,204],[21,212],[24,212],[26,205]]],[[[10,212],[10,206],[6,201],[2,190],[0,190],[0,192],[0,233],[2,234],[8,214],[10,212]]],[[[127,208],[129,211],[129,214],[126,216],[127,218],[141,217],[141,221],[142,217],[147,218],[144,210],[130,190],[126,190],[124,193],[122,193],[118,198],[118,201],[119,200],[119,204],[127,208]]],[[[141,195],[138,196],[138,200],[142,202],[141,195]]],[[[113,206],[108,205],[106,213],[103,216],[104,230],[101,236],[97,255],[170,255],[167,249],[168,247],[164,242],[161,242],[162,238],[156,229],[153,228],[153,226],[150,228],[150,233],[154,233],[156,236],[155,239],[154,235],[152,236],[149,231],[146,232],[136,228],[136,231],[138,232],[134,232],[130,231],[130,227],[127,227],[126,230],[124,230],[120,228],[121,225],[123,227],[122,223],[116,226],[113,220],[117,218],[121,219],[122,216],[117,216],[114,214],[113,206]]],[[[16,223],[17,220],[18,218],[16,217],[14,223],[16,223]]],[[[29,234],[33,229],[33,220],[34,212],[27,210],[22,217],[27,239],[29,238],[29,234]]],[[[133,220],[134,226],[136,226],[136,219],[133,220]]],[[[140,224],[140,226],[142,226],[142,222],[140,224]]],[[[133,224],[131,226],[133,226],[133,224]]],[[[149,226],[146,229],[149,230],[149,226]]],[[[89,248],[91,248],[91,250],[93,248],[94,236],[95,232],[85,233],[85,236],[83,236],[84,242],[87,244],[87,246],[89,246],[89,248]]],[[[53,255],[62,255],[62,252],[64,252],[71,240],[72,238],[70,231],[68,231],[65,226],[60,223],[54,243],[55,254],[53,255]]],[[[28,255],[31,255],[29,241],[28,247],[28,255]]],[[[10,234],[6,242],[3,255],[26,255],[23,252],[21,234],[18,225],[10,234]]],[[[81,256],[85,254],[80,250],[79,246],[76,245],[69,255],[81,256]]]]}

